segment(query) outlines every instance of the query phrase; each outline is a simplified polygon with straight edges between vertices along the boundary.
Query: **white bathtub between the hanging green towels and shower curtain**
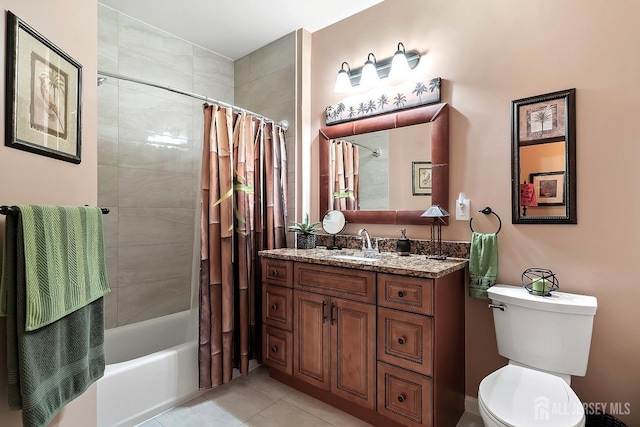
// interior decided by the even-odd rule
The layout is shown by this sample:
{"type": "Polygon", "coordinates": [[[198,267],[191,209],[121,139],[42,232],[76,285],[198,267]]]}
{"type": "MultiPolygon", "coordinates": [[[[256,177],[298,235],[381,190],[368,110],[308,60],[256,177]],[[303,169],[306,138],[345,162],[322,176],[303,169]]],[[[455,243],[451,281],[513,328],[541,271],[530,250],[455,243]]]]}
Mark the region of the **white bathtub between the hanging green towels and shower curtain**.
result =
{"type": "Polygon", "coordinates": [[[98,427],[134,426],[199,394],[194,316],[183,311],[105,331],[98,427]]]}

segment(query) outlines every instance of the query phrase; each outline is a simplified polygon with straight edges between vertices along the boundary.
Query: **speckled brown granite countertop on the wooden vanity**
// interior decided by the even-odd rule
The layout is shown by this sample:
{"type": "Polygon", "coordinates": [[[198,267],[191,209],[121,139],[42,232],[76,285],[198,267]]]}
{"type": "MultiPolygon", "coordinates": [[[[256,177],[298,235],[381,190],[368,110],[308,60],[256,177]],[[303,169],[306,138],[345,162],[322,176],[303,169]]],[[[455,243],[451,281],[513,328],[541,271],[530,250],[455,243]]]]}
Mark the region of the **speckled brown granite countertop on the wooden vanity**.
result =
{"type": "Polygon", "coordinates": [[[425,255],[399,256],[395,252],[364,254],[352,249],[269,249],[258,253],[263,258],[308,262],[334,267],[358,268],[379,273],[402,274],[437,279],[467,266],[463,258],[427,259],[425,255]],[[354,258],[339,258],[354,257],[354,258]],[[370,257],[370,258],[369,258],[370,257]],[[367,259],[364,259],[367,258],[367,259]]]}

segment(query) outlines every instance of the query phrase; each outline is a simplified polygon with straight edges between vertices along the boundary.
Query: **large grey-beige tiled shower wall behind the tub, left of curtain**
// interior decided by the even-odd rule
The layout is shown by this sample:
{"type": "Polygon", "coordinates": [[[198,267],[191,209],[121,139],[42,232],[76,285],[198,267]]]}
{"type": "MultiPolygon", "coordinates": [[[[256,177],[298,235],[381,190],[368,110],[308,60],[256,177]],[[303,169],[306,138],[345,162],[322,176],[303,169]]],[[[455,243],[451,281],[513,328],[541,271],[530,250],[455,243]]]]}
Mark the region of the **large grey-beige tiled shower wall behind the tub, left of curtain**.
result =
{"type": "MultiPolygon", "coordinates": [[[[98,5],[98,68],[234,102],[233,61],[98,5]]],[[[108,328],[191,305],[202,101],[107,79],[98,89],[98,200],[108,328]]]]}

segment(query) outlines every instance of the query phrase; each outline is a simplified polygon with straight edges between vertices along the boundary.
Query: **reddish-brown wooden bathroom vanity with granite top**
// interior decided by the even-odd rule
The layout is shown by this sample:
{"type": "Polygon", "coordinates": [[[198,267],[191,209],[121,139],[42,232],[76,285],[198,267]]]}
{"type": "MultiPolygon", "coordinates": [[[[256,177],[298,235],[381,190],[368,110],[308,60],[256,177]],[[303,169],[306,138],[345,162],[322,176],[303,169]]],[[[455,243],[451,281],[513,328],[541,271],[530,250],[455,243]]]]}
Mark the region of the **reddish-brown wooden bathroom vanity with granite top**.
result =
{"type": "Polygon", "coordinates": [[[466,260],[260,255],[263,362],[273,378],[377,426],[456,425],[466,260]]]}

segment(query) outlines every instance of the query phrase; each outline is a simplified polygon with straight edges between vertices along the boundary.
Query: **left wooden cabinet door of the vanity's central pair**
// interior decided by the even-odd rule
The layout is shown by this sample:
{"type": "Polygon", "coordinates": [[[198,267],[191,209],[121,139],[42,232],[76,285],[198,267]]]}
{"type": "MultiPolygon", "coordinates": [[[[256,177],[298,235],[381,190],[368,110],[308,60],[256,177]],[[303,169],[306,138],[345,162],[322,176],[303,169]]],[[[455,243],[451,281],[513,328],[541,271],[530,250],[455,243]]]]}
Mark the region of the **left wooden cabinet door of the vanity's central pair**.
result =
{"type": "Polygon", "coordinates": [[[293,292],[293,375],[329,390],[329,297],[293,292]]]}

